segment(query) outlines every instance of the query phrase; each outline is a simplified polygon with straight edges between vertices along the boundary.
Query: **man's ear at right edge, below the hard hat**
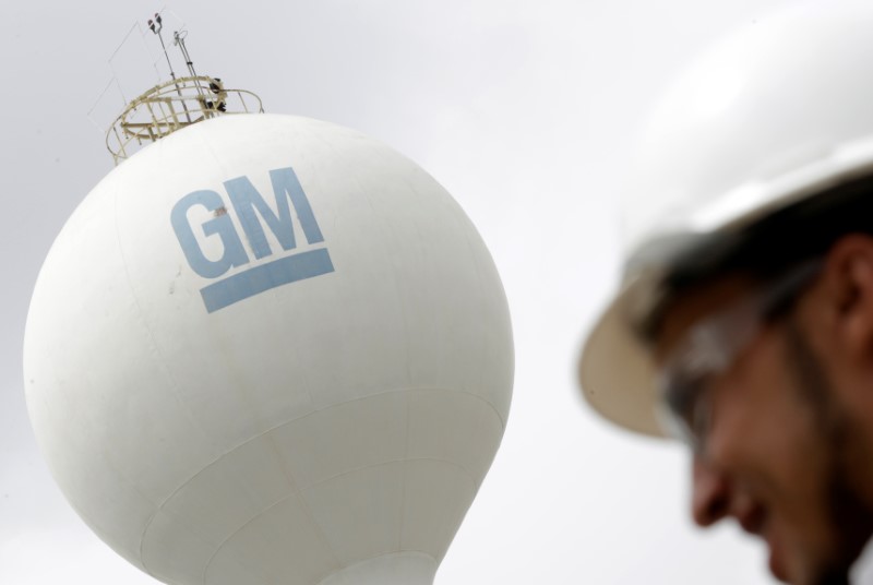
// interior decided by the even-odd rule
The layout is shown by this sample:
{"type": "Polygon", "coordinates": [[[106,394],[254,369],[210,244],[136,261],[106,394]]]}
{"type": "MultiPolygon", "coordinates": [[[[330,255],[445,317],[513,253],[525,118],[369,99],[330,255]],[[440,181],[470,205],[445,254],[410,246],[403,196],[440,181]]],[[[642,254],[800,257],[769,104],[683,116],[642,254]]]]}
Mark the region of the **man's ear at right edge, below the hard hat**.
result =
{"type": "Polygon", "coordinates": [[[827,252],[820,284],[833,349],[873,367],[873,237],[852,234],[837,240],[827,252]]]}

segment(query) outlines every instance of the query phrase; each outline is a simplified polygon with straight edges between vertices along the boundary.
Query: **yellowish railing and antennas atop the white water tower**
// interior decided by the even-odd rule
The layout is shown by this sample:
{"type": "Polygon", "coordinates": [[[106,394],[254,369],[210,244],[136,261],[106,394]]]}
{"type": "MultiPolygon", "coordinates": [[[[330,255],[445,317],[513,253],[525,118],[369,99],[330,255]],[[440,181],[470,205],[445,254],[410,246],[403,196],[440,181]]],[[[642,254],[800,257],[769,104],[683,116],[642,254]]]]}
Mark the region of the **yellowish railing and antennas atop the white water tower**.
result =
{"type": "Polygon", "coordinates": [[[176,76],[164,43],[164,19],[155,13],[148,28],[157,35],[170,80],[155,85],[131,100],[106,132],[106,146],[116,165],[140,147],[156,142],[177,130],[225,114],[263,112],[261,98],[246,89],[228,89],[219,77],[198,75],[184,39],[187,31],[175,31],[174,45],[188,67],[188,75],[176,76]]]}

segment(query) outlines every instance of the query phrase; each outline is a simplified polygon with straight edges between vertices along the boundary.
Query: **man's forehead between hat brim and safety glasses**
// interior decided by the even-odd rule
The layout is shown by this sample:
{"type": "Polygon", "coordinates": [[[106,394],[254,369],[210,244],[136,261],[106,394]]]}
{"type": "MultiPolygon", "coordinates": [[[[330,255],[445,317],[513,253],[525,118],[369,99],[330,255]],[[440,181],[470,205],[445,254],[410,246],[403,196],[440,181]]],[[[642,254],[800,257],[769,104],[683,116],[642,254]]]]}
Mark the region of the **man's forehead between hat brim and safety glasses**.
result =
{"type": "Polygon", "coordinates": [[[655,334],[655,359],[663,361],[692,326],[748,297],[756,286],[751,276],[733,273],[689,286],[675,294],[659,320],[655,334]]]}

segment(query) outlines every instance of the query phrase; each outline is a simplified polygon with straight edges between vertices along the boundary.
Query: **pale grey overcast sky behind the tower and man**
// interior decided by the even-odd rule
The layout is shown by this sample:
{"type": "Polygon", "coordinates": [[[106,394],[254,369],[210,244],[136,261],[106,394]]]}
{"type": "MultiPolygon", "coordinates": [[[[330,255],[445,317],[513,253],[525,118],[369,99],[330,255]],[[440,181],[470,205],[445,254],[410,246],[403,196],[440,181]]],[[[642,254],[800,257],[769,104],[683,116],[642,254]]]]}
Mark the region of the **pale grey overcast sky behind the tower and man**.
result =
{"type": "MultiPolygon", "coordinates": [[[[761,545],[733,526],[692,527],[682,449],[597,419],[578,397],[574,365],[615,285],[617,201],[653,96],[713,38],[779,3],[167,4],[190,33],[199,72],[256,92],[267,111],[386,142],[447,188],[491,250],[512,311],[515,394],[503,445],[438,585],[772,583],[761,545]]],[[[3,8],[3,584],[156,583],[93,536],[55,487],[27,421],[21,347],[43,259],[112,166],[97,127],[120,112],[122,92],[130,98],[157,81],[148,59],[137,61],[158,55],[140,28],[109,58],[135,22],[145,29],[164,7],[3,8]]]]}

